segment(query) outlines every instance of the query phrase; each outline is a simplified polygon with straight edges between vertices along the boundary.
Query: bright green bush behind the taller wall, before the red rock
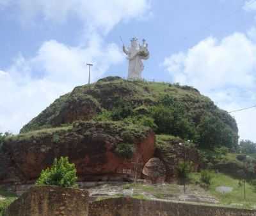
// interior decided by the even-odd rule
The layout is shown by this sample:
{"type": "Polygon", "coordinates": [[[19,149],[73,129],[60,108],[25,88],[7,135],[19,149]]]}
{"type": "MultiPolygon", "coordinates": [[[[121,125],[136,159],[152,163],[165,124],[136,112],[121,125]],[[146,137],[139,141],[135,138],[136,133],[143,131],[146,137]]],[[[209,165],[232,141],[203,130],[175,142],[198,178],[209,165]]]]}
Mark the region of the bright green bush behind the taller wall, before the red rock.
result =
{"type": "Polygon", "coordinates": [[[68,162],[68,157],[54,159],[51,168],[42,170],[36,185],[57,185],[60,187],[76,187],[76,167],[68,162]]]}

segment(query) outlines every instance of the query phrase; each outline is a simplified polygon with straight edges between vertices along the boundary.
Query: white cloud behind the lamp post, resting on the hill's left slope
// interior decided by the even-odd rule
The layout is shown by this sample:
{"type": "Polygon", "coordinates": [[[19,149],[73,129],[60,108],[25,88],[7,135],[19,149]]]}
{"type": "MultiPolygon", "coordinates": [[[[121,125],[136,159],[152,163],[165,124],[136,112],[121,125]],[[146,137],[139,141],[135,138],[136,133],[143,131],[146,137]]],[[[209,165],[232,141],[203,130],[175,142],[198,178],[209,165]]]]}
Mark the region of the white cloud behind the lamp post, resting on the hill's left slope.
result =
{"type": "Polygon", "coordinates": [[[35,57],[24,59],[19,55],[9,69],[0,71],[0,131],[19,132],[20,127],[54,99],[87,83],[85,62],[95,61],[92,71],[95,81],[109,66],[123,60],[115,44],[104,45],[100,40],[93,40],[89,47],[45,41],[35,57]]]}

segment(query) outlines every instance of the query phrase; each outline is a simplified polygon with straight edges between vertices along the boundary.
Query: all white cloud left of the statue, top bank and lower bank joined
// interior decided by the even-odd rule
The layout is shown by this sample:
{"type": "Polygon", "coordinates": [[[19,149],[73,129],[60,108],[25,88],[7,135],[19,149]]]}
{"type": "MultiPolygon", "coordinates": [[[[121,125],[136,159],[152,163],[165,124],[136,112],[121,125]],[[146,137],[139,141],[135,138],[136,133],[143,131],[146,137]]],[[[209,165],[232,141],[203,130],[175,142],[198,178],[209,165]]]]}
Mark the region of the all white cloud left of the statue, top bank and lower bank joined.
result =
{"type": "Polygon", "coordinates": [[[96,80],[123,61],[114,43],[105,44],[104,35],[122,21],[150,14],[150,0],[0,0],[0,8],[11,4],[20,11],[22,23],[35,22],[36,27],[42,18],[49,24],[73,20],[86,33],[83,43],[74,47],[45,41],[35,56],[19,54],[10,68],[0,71],[0,132],[17,133],[56,97],[86,83],[86,62],[93,63],[96,80]]]}

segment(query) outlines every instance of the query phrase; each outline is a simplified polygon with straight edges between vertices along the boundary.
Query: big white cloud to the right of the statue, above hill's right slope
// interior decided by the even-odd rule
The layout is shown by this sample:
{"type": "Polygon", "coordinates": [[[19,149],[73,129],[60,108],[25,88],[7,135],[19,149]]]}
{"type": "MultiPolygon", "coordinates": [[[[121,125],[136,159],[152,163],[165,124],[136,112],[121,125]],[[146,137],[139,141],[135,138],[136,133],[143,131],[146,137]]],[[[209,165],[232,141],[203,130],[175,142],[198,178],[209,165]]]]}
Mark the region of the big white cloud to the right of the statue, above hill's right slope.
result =
{"type": "MultiPolygon", "coordinates": [[[[192,85],[221,108],[236,110],[256,104],[256,34],[234,33],[223,40],[206,38],[187,52],[166,57],[163,66],[174,82],[192,85]]],[[[256,141],[256,110],[234,113],[241,138],[256,141]],[[247,113],[250,113],[247,114],[247,113]],[[254,114],[254,115],[252,115],[254,114]]]]}

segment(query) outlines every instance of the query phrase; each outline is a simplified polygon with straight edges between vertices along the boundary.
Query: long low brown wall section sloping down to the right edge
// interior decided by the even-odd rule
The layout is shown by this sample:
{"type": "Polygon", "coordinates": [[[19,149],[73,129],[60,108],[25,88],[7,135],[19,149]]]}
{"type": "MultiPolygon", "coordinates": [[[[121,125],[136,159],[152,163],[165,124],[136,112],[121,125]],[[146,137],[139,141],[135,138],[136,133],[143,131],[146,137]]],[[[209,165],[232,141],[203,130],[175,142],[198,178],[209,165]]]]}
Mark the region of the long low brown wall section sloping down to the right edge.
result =
{"type": "Polygon", "coordinates": [[[256,210],[147,201],[132,198],[105,199],[90,205],[89,216],[255,216],[256,210]]]}

